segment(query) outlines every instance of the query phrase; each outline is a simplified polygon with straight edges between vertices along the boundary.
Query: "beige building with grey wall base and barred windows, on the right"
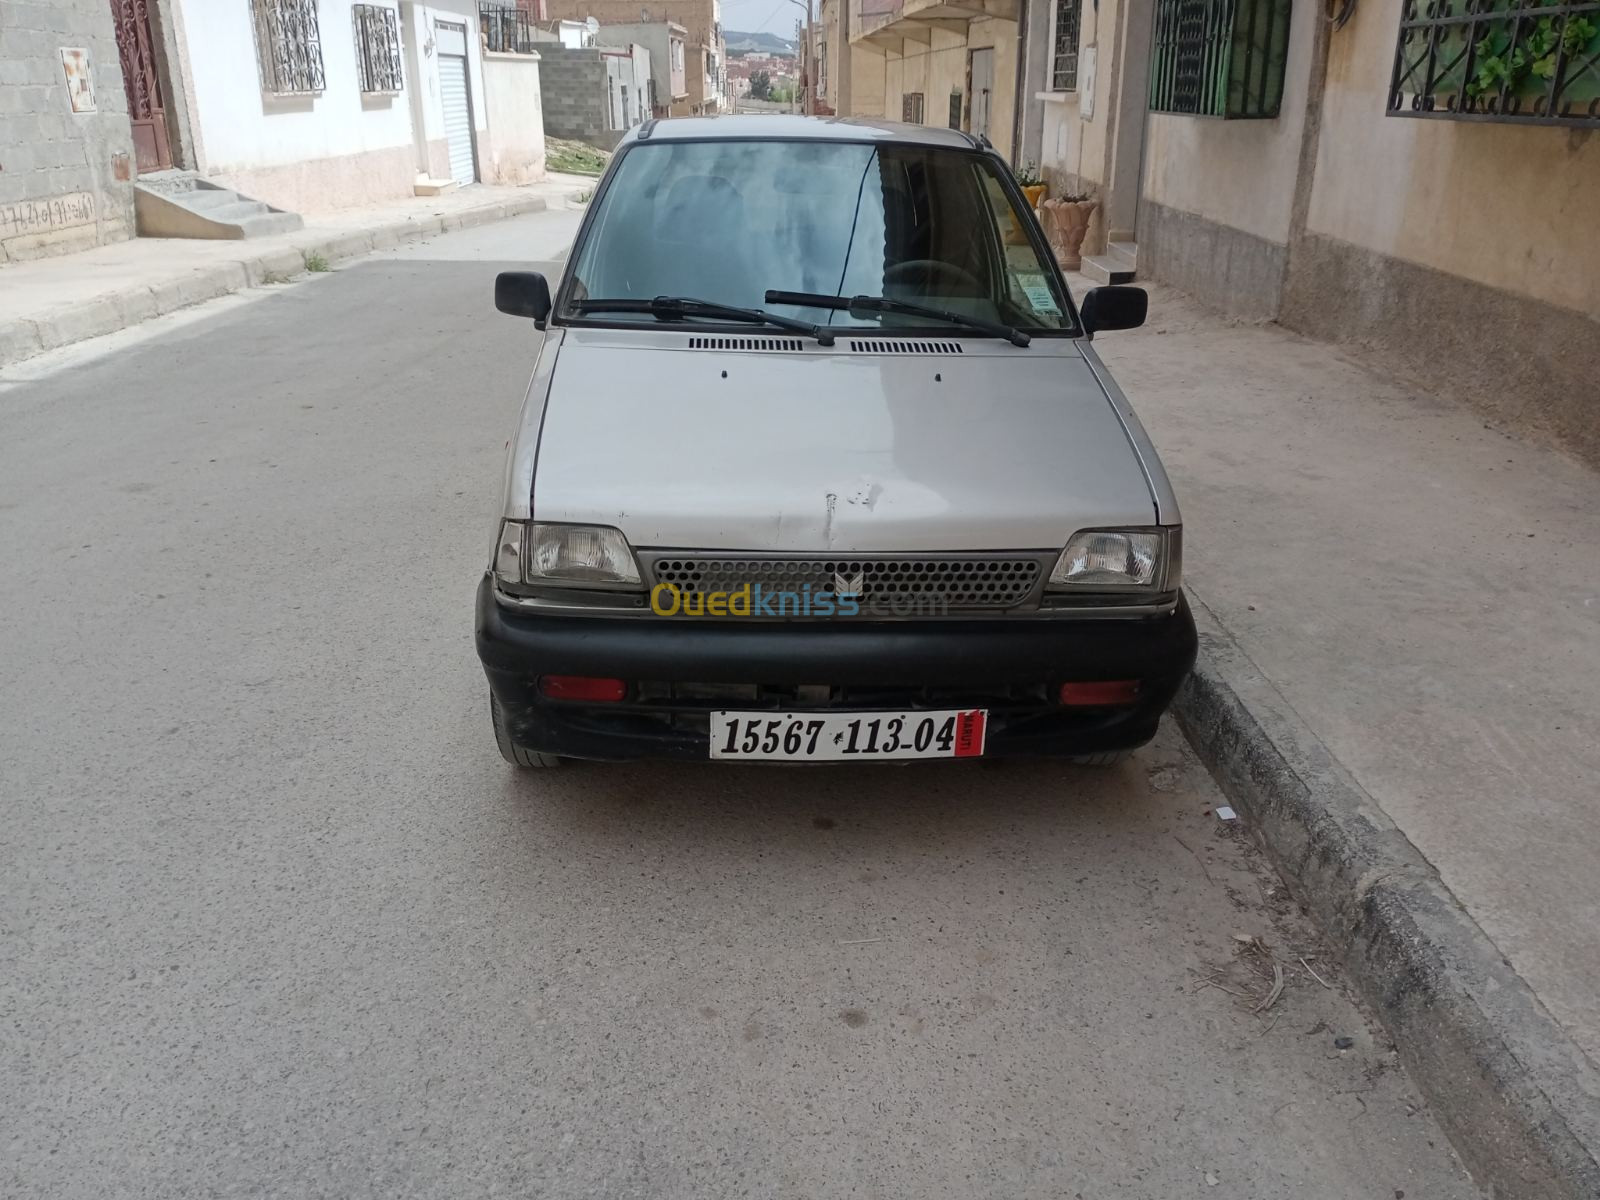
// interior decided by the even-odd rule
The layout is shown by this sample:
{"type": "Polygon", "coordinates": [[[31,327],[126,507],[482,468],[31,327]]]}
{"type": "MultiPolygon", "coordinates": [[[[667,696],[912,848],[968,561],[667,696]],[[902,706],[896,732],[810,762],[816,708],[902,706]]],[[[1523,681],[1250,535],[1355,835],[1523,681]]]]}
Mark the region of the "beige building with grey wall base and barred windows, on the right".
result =
{"type": "Polygon", "coordinates": [[[1600,462],[1600,3],[1542,59],[1531,3],[1469,29],[1402,0],[1342,24],[1240,0],[1210,58],[1179,10],[1029,3],[1021,154],[1099,198],[1086,270],[1360,342],[1600,462]],[[1514,34],[1523,67],[1451,66],[1514,34]]]}

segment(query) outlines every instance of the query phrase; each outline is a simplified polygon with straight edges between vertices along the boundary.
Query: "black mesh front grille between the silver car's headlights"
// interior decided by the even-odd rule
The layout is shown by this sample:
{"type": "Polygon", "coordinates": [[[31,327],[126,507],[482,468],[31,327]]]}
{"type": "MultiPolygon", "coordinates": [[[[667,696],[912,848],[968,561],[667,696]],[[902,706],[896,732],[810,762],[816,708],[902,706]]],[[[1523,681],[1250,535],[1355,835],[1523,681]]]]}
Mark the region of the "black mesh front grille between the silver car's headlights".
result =
{"type": "Polygon", "coordinates": [[[1037,552],[986,555],[642,555],[648,582],[680,592],[736,592],[760,584],[768,592],[854,595],[862,613],[942,616],[1037,606],[1046,558],[1037,552]]]}

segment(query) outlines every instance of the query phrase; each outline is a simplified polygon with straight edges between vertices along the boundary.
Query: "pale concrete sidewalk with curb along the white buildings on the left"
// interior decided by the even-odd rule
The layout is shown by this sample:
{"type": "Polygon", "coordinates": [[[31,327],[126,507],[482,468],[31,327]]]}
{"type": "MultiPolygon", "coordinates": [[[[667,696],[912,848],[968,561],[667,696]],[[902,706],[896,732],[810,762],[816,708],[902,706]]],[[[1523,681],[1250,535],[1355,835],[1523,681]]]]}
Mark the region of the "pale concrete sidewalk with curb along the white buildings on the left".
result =
{"type": "Polygon", "coordinates": [[[552,173],[526,187],[475,184],[445,195],[323,213],[307,218],[304,229],[275,237],[133,238],[0,266],[0,366],[299,275],[312,256],[334,262],[448,229],[562,208],[594,186],[587,176],[552,173]]]}

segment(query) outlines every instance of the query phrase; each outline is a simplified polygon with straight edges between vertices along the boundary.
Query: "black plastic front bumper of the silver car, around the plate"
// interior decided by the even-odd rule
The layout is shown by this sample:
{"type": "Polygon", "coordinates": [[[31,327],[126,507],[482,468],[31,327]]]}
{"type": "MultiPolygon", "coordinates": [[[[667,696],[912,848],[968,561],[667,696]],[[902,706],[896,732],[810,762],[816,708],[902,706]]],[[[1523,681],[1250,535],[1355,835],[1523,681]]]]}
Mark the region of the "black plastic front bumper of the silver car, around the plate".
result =
{"type": "Polygon", "coordinates": [[[986,757],[1142,746],[1195,661],[1179,597],[1114,621],[696,621],[530,616],[478,584],[478,658],[512,741],[573,758],[709,758],[707,714],[987,709],[986,757]],[[614,704],[555,701],[541,675],[629,683],[614,704]],[[1061,683],[1139,680],[1123,707],[1069,709],[1061,683]],[[818,685],[827,693],[819,694],[818,685]]]}

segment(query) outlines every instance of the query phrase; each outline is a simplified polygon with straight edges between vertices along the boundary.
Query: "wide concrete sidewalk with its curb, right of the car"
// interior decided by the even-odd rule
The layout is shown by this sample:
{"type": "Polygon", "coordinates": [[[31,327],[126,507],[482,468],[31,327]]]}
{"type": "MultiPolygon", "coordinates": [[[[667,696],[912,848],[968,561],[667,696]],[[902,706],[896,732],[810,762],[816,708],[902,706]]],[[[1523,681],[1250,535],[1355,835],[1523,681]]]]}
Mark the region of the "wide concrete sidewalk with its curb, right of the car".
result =
{"type": "MultiPolygon", "coordinates": [[[[1600,477],[1342,349],[1162,288],[1150,314],[1096,347],[1182,506],[1203,653],[1179,717],[1342,925],[1390,1030],[1418,1022],[1397,1035],[1413,1070],[1498,1090],[1458,1149],[1523,1102],[1576,1138],[1552,1152],[1582,1168],[1574,1194],[1600,1195],[1600,477]],[[1469,1018],[1488,1024],[1462,1064],[1446,1043],[1469,1018]]],[[[1555,1194],[1526,1179],[1509,1194],[1555,1194]]]]}

